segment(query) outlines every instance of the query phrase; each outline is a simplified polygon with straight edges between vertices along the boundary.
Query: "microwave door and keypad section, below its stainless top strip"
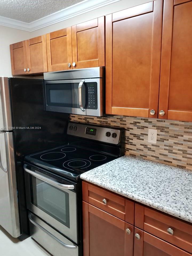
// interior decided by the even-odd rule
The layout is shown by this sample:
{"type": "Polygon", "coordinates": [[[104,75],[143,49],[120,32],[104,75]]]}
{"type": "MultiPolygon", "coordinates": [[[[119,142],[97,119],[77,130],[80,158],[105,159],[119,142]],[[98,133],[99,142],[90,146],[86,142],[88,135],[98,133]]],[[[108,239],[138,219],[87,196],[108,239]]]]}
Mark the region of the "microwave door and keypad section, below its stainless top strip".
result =
{"type": "Polygon", "coordinates": [[[103,115],[102,78],[44,81],[46,110],[103,115]]]}

